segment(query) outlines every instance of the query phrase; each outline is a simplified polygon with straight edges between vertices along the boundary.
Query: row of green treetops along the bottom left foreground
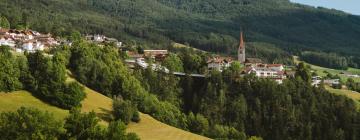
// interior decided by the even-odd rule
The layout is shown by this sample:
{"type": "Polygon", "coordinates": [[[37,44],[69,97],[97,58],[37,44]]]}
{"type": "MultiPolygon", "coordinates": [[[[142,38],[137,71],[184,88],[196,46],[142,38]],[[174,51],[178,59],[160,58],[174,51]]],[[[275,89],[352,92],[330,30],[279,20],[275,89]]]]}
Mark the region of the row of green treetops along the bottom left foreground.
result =
{"type": "Polygon", "coordinates": [[[110,122],[108,128],[99,125],[94,112],[80,113],[73,109],[65,122],[55,120],[52,114],[21,107],[15,112],[0,114],[0,139],[96,139],[139,140],[134,133],[126,134],[121,121],[110,122]]]}

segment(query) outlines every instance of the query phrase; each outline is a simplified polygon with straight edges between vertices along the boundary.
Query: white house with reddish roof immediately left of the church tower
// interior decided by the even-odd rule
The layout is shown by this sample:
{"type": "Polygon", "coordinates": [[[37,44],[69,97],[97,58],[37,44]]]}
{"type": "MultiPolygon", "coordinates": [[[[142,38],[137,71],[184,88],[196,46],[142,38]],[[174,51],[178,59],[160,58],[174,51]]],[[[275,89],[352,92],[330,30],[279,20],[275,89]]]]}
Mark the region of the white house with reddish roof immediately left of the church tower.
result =
{"type": "Polygon", "coordinates": [[[207,61],[207,64],[209,70],[217,70],[222,72],[226,68],[229,68],[232,62],[232,58],[213,57],[207,61]]]}

